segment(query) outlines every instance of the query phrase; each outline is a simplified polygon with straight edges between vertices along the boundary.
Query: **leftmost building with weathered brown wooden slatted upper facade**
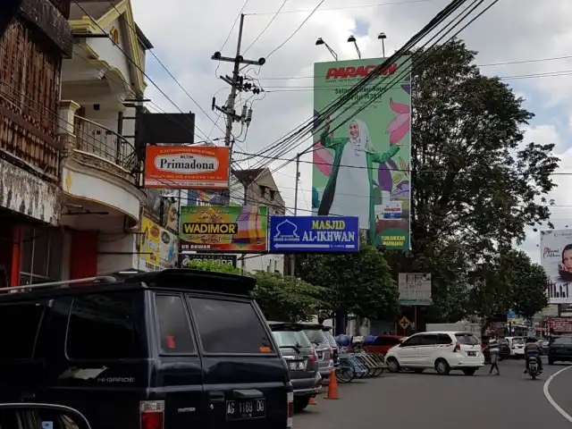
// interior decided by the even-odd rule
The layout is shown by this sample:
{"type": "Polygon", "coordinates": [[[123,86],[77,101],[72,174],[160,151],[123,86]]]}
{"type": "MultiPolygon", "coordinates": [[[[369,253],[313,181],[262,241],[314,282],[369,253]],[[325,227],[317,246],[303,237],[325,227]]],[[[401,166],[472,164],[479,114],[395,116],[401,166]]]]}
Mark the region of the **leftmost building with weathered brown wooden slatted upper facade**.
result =
{"type": "Polygon", "coordinates": [[[0,40],[0,284],[61,278],[63,141],[58,102],[71,57],[70,0],[23,0],[0,40]]]}

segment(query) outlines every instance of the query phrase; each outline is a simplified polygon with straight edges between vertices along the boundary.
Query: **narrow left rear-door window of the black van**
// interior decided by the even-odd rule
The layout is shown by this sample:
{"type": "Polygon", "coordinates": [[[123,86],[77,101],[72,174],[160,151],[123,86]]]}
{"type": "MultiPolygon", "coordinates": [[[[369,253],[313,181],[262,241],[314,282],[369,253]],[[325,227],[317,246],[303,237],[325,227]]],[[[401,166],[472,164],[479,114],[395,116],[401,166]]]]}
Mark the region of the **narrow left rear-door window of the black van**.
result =
{"type": "Polygon", "coordinates": [[[189,319],[181,297],[156,296],[157,323],[164,354],[194,353],[189,319]]]}

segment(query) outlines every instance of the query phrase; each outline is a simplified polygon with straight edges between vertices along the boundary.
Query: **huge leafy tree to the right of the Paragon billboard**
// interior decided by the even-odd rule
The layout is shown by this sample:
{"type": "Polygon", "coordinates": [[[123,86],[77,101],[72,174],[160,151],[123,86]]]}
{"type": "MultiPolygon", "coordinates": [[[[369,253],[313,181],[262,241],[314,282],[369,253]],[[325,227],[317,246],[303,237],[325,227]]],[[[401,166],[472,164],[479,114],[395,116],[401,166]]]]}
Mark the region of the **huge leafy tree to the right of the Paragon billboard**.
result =
{"type": "Polygon", "coordinates": [[[454,40],[413,68],[412,251],[387,256],[394,270],[433,274],[442,320],[458,316],[463,300],[450,299],[451,285],[466,293],[467,274],[484,257],[522,242],[527,225],[551,227],[554,145],[524,142],[534,114],[507,84],[482,75],[475,56],[454,40]]]}

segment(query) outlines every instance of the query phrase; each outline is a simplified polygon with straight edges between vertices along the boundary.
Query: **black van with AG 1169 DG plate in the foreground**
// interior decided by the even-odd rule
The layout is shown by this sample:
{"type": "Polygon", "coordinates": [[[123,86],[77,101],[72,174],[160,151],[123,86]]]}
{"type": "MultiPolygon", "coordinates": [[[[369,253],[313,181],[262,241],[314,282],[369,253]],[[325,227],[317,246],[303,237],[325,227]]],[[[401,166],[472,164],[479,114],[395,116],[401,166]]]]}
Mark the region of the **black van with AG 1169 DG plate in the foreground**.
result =
{"type": "Polygon", "coordinates": [[[90,280],[0,290],[0,401],[77,408],[94,429],[291,427],[288,369],[253,279],[90,280]]]}

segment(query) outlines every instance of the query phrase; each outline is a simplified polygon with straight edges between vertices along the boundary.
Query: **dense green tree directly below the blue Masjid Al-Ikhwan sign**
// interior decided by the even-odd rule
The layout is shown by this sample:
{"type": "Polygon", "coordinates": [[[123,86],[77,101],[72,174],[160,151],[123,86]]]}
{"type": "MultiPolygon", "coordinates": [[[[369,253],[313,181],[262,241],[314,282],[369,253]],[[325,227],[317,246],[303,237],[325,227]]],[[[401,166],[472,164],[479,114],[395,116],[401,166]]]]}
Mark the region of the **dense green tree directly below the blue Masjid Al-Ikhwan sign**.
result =
{"type": "Polygon", "coordinates": [[[372,246],[362,244],[358,253],[344,255],[307,254],[297,261],[299,277],[324,287],[332,311],[382,319],[398,309],[399,293],[390,267],[372,246]]]}

